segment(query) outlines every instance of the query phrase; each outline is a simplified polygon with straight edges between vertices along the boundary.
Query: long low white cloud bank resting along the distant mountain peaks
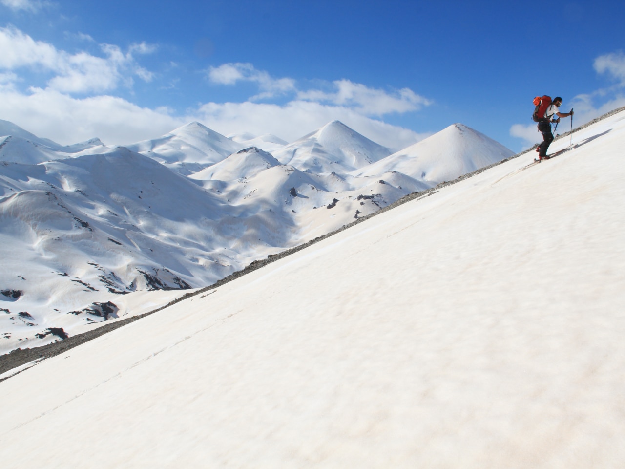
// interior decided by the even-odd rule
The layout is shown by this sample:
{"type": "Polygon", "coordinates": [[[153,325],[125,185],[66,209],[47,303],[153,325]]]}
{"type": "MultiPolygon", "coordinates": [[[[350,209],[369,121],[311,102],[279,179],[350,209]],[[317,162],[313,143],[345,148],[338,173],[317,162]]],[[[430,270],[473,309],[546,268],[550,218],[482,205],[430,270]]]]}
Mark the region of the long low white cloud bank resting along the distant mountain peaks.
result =
{"type": "Polygon", "coordinates": [[[394,150],[428,136],[368,118],[353,109],[309,101],[292,101],[284,106],[250,101],[206,103],[179,116],[171,109],[141,108],[114,96],[78,99],[55,89],[40,88],[22,94],[10,87],[2,88],[1,76],[0,116],[61,144],[93,137],[109,145],[129,144],[156,138],[191,121],[202,122],[224,135],[243,131],[257,135],[272,133],[294,141],[339,119],[367,138],[394,150]]]}

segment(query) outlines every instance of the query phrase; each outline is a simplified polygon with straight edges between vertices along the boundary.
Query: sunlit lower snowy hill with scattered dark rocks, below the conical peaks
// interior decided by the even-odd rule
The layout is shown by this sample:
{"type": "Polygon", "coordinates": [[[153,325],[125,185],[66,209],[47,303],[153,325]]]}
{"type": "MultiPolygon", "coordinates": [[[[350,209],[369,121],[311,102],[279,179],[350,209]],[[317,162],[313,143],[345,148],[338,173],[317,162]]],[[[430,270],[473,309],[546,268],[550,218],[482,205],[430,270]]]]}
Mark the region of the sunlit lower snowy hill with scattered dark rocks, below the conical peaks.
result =
{"type": "MultiPolygon", "coordinates": [[[[305,173],[252,147],[189,178],[221,197],[224,204],[236,206],[238,216],[269,216],[275,224],[271,244],[290,247],[371,214],[405,194],[429,188],[394,171],[382,176],[305,173]]],[[[270,226],[269,219],[265,226],[270,226]]]]}

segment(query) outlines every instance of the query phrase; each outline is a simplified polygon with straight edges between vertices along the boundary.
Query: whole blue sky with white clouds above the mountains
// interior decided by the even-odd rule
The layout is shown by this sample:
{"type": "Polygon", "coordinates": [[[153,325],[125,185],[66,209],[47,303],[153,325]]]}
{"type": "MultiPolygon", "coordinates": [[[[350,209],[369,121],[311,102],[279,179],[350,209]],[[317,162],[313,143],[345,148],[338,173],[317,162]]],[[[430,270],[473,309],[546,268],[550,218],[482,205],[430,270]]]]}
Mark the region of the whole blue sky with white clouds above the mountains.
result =
{"type": "Polygon", "coordinates": [[[534,96],[575,125],[625,105],[624,24],[622,1],[0,0],[0,119],[63,144],[339,119],[394,149],[461,122],[519,151],[534,96]]]}

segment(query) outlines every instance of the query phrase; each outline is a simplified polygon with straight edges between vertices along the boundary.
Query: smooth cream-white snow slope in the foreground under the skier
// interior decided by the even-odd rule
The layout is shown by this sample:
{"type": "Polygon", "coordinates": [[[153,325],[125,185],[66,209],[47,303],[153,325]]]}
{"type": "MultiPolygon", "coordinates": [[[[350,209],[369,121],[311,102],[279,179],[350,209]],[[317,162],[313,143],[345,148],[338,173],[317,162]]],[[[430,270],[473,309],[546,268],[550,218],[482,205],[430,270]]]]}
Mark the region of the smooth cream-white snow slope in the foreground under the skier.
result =
{"type": "Polygon", "coordinates": [[[622,468],[625,113],[572,138],[2,381],[2,466],[622,468]]]}

